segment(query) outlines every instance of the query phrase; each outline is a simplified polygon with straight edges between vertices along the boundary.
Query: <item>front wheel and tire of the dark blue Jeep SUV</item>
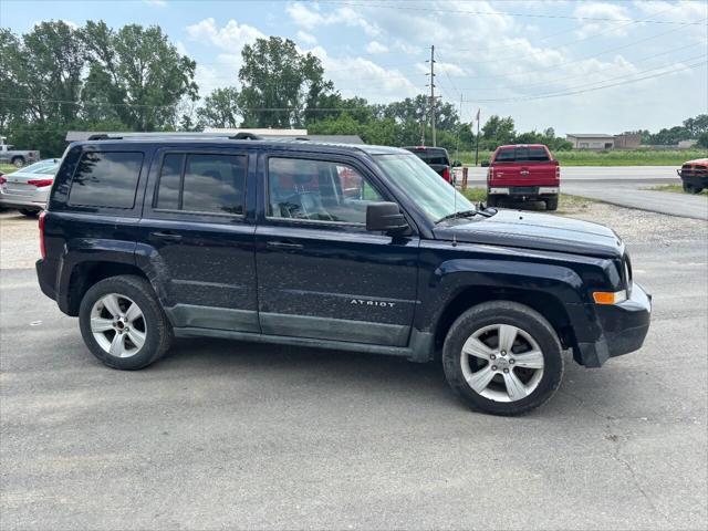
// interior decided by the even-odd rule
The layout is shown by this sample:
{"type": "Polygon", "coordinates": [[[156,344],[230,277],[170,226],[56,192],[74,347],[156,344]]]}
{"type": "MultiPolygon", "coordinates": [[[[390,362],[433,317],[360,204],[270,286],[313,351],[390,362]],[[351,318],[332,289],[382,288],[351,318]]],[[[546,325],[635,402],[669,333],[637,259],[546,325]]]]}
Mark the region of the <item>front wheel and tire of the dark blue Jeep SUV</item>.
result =
{"type": "MultiPolygon", "coordinates": [[[[512,335],[506,333],[506,337],[512,335]]],[[[511,301],[485,302],[462,313],[445,339],[442,366],[448,384],[471,409],[502,416],[522,415],[543,405],[563,378],[562,348],[553,326],[537,311],[511,301]],[[503,337],[501,330],[514,327],[514,351],[507,353],[497,340],[503,337]],[[488,357],[462,354],[462,347],[469,352],[470,346],[488,357]],[[478,391],[469,382],[476,382],[478,391]]]]}

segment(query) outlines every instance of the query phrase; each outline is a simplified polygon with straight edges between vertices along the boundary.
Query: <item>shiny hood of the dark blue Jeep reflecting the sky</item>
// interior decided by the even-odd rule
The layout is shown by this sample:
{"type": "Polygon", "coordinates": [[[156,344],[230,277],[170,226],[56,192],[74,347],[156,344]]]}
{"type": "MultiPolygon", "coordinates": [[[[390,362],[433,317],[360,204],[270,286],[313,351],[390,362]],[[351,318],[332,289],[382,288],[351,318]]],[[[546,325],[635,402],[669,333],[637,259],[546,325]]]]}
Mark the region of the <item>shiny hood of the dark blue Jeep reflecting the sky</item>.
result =
{"type": "Polygon", "coordinates": [[[475,216],[457,225],[441,225],[435,238],[469,243],[573,252],[602,258],[621,257],[624,244],[598,223],[521,210],[499,210],[490,218],[475,216]]]}

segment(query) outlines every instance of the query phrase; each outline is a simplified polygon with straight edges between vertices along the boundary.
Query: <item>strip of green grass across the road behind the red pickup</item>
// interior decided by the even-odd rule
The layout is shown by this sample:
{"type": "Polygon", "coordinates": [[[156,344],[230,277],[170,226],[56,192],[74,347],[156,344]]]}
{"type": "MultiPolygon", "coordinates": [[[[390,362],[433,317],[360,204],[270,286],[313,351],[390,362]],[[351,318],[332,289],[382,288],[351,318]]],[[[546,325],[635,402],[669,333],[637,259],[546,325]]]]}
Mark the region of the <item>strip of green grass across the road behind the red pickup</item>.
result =
{"type": "MultiPolygon", "coordinates": [[[[489,160],[490,152],[479,152],[479,162],[489,160]]],[[[451,152],[450,156],[455,158],[451,152]]],[[[676,149],[676,150],[611,150],[591,152],[575,149],[572,152],[555,152],[561,166],[680,166],[686,160],[708,156],[708,149],[676,149]]],[[[460,152],[464,164],[475,164],[475,152],[460,152]]]]}

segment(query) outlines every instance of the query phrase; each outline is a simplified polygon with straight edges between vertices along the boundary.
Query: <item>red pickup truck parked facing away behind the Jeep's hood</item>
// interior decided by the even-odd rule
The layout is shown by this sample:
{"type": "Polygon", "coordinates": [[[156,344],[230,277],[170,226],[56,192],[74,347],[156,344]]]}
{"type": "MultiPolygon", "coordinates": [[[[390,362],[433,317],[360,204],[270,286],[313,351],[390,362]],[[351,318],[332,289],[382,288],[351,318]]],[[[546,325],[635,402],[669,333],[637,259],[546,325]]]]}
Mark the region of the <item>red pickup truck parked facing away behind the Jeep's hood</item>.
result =
{"type": "Polygon", "coordinates": [[[543,144],[499,146],[487,170],[487,205],[506,199],[543,201],[546,210],[558,208],[561,167],[543,144]]]}

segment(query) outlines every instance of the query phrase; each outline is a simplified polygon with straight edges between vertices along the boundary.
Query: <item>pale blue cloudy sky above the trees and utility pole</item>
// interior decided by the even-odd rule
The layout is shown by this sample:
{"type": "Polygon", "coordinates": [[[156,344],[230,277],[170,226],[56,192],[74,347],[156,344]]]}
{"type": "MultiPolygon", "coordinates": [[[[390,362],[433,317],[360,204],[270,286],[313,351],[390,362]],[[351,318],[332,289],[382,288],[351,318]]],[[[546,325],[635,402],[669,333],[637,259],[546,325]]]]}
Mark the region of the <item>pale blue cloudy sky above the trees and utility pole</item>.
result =
{"type": "Polygon", "coordinates": [[[343,96],[387,103],[436,94],[512,116],[517,131],[658,131],[708,112],[708,0],[0,0],[0,27],[42,20],[158,24],[197,61],[206,95],[238,86],[240,51],[292,39],[343,96]]]}

